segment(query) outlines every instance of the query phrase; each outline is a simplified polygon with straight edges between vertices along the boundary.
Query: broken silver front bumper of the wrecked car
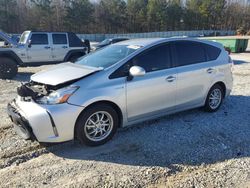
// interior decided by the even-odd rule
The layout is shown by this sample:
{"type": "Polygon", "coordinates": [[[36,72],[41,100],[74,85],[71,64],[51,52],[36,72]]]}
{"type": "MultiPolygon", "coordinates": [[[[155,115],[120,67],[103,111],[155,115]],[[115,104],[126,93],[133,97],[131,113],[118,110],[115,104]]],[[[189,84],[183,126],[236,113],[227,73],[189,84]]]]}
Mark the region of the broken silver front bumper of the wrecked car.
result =
{"type": "Polygon", "coordinates": [[[74,127],[83,107],[68,103],[40,105],[33,100],[14,99],[7,112],[16,133],[39,142],[64,142],[74,139],[74,127]]]}

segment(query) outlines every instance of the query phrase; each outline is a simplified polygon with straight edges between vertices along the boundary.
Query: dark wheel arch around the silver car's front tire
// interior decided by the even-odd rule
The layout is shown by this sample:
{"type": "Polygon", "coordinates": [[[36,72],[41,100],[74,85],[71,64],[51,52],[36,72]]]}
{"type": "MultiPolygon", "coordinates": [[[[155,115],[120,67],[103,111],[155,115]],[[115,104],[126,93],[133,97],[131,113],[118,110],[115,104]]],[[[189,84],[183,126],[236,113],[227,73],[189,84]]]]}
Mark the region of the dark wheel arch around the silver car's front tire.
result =
{"type": "Polygon", "coordinates": [[[106,104],[106,105],[110,105],[111,107],[114,108],[114,110],[117,112],[117,115],[118,115],[118,119],[119,119],[119,124],[118,124],[118,127],[122,127],[122,122],[123,122],[123,115],[122,115],[122,111],[120,109],[120,107],[115,104],[114,102],[112,101],[108,101],[108,100],[100,100],[100,101],[96,101],[94,103],[91,103],[89,104],[88,106],[86,106],[82,111],[81,113],[78,115],[77,119],[76,119],[76,122],[75,122],[75,126],[74,126],[74,138],[76,138],[76,123],[78,122],[80,116],[87,110],[89,109],[90,107],[94,106],[94,105],[97,105],[97,104],[106,104]]]}

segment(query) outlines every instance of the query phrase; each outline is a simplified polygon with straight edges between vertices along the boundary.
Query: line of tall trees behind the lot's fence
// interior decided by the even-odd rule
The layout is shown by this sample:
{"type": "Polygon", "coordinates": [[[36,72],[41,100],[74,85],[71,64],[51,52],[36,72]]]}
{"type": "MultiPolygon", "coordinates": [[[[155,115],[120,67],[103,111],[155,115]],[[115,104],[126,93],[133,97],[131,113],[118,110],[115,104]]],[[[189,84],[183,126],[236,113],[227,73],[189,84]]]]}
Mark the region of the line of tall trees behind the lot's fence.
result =
{"type": "Polygon", "coordinates": [[[0,0],[0,30],[132,33],[250,29],[240,0],[0,0]]]}

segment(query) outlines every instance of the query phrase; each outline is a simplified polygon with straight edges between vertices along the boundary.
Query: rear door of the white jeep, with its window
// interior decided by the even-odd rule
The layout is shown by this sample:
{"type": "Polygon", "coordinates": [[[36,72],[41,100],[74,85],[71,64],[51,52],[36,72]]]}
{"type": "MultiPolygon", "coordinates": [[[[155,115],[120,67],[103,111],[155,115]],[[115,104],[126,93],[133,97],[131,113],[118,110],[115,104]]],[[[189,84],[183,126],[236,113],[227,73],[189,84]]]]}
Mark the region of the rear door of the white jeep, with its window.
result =
{"type": "Polygon", "coordinates": [[[54,61],[63,61],[69,51],[67,33],[52,33],[52,56],[54,61]]]}

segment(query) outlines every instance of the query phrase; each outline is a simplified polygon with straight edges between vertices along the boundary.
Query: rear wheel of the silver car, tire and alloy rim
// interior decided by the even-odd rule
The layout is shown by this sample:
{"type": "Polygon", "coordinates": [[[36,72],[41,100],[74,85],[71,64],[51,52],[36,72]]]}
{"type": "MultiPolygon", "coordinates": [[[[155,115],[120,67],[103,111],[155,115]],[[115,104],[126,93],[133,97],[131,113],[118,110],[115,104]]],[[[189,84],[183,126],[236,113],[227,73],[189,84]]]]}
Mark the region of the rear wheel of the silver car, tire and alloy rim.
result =
{"type": "Polygon", "coordinates": [[[204,106],[207,112],[216,112],[223,101],[224,91],[219,84],[214,85],[208,92],[206,103],[204,106]]]}

